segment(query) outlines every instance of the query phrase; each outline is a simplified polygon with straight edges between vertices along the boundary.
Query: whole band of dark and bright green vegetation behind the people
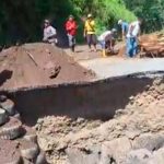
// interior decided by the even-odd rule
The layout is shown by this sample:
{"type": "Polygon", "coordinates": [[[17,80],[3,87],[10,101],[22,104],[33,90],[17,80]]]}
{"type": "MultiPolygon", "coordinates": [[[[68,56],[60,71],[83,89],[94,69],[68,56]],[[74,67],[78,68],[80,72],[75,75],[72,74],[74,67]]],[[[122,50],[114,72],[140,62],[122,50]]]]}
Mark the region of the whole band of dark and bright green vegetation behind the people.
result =
{"type": "Polygon", "coordinates": [[[164,0],[1,0],[0,44],[36,42],[42,38],[42,24],[50,17],[61,30],[69,14],[74,14],[82,36],[82,17],[92,13],[97,33],[117,25],[119,19],[128,22],[136,15],[145,19],[147,32],[161,30],[164,24],[164,0]]]}

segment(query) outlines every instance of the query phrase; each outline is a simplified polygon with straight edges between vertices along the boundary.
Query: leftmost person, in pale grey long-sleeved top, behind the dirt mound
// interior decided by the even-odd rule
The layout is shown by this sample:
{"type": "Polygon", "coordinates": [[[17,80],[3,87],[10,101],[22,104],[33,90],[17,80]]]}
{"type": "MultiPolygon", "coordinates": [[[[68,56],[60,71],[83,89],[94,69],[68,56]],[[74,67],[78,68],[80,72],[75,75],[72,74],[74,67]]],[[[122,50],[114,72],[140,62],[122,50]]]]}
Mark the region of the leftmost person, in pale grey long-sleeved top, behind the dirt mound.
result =
{"type": "Polygon", "coordinates": [[[51,45],[57,44],[57,31],[50,25],[49,20],[45,20],[44,22],[44,38],[43,42],[49,43],[51,45]]]}

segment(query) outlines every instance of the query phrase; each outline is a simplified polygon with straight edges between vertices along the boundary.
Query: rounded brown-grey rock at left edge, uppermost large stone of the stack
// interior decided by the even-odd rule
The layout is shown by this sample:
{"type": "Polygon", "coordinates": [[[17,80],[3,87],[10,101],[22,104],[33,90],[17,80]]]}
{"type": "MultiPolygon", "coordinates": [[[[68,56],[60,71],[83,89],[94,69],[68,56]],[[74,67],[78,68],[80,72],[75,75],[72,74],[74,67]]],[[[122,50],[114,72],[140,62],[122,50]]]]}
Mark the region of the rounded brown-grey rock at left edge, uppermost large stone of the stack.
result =
{"type": "Polygon", "coordinates": [[[10,116],[13,116],[15,114],[14,103],[11,99],[2,102],[0,105],[10,116]]]}

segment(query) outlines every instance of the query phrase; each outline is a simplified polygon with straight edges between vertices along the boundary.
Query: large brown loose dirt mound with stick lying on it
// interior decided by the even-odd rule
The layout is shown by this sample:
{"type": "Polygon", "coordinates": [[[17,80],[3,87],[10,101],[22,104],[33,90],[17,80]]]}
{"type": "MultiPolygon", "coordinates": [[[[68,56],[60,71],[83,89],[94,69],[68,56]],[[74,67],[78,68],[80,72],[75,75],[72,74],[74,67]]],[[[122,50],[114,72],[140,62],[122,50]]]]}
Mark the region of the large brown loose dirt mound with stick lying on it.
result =
{"type": "Polygon", "coordinates": [[[47,44],[11,47],[0,54],[0,89],[16,90],[91,81],[92,71],[80,67],[62,49],[47,44]]]}

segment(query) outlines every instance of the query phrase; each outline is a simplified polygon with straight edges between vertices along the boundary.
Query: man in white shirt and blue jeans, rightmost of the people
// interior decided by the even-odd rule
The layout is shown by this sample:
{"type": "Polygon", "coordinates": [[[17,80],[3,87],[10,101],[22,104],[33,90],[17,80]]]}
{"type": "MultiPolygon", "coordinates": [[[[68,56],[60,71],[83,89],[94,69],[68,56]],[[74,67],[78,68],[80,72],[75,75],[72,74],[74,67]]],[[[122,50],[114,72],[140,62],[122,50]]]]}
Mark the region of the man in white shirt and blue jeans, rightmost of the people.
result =
{"type": "Polygon", "coordinates": [[[127,34],[127,56],[133,57],[138,54],[138,37],[140,35],[141,20],[132,22],[127,34]]]}

